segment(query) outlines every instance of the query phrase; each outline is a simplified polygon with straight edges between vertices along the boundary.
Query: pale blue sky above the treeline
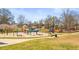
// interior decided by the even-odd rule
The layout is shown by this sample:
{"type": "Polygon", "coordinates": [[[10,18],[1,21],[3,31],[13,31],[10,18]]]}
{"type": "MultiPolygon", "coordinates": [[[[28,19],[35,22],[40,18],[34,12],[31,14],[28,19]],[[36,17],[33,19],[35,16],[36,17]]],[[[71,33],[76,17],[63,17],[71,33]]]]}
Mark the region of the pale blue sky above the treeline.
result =
{"type": "MultiPolygon", "coordinates": [[[[64,9],[64,8],[63,8],[64,9]]],[[[24,15],[28,21],[39,21],[45,19],[48,15],[60,17],[62,14],[62,8],[9,8],[14,15],[14,20],[18,21],[19,15],[24,15]]],[[[79,12],[79,9],[73,8],[79,12]]]]}

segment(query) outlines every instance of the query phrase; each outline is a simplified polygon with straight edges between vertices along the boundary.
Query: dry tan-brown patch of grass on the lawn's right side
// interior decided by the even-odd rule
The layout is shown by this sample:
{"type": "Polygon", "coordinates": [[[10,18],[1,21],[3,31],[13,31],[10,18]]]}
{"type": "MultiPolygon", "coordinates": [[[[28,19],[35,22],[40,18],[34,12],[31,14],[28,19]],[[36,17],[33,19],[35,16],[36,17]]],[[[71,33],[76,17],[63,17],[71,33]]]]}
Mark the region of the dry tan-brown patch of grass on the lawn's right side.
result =
{"type": "Polygon", "coordinates": [[[69,33],[60,36],[58,43],[70,43],[73,45],[79,45],[79,33],[69,33]]]}

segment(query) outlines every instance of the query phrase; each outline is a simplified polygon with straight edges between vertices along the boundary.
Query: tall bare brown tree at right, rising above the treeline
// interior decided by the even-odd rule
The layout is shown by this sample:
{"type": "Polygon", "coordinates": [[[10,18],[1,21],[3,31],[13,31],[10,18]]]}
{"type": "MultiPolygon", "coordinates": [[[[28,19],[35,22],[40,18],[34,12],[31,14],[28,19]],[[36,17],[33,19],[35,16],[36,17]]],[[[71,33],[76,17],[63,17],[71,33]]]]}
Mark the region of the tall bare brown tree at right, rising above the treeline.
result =
{"type": "Polygon", "coordinates": [[[64,28],[66,30],[75,29],[76,24],[76,13],[73,13],[73,11],[66,9],[63,12],[63,24],[64,28]]]}

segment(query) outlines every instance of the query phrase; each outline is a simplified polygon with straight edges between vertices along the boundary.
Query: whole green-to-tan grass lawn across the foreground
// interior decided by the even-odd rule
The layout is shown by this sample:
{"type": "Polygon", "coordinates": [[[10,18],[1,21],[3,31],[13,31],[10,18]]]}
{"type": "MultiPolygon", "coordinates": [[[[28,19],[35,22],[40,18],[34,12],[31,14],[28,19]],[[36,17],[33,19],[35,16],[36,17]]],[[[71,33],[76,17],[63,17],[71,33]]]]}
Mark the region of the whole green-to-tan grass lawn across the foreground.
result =
{"type": "MultiPolygon", "coordinates": [[[[34,39],[34,38],[33,38],[34,39]]],[[[78,50],[79,33],[58,38],[40,38],[14,45],[0,47],[0,50],[78,50]]]]}

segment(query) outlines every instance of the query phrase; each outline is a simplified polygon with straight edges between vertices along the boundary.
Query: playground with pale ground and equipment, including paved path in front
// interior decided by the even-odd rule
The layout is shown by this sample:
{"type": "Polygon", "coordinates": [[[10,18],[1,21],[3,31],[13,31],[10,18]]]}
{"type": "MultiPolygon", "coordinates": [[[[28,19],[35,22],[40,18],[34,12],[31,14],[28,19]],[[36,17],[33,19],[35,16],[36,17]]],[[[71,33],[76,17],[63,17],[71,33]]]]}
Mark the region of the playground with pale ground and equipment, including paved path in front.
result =
{"type": "Polygon", "coordinates": [[[49,30],[47,32],[42,32],[41,30],[45,29],[40,29],[36,26],[27,27],[26,25],[19,29],[15,25],[2,24],[0,25],[0,47],[39,38],[57,37],[57,34],[53,33],[52,30],[50,32],[49,30]]]}

